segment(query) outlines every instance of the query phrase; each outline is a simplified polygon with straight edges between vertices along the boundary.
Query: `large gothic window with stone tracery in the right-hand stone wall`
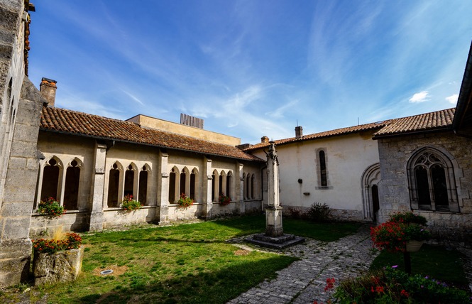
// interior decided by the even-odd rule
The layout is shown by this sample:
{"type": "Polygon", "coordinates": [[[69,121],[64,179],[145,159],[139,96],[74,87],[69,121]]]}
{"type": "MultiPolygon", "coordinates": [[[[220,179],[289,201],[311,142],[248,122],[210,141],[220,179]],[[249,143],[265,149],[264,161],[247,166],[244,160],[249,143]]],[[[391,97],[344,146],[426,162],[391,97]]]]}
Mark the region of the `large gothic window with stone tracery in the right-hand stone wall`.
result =
{"type": "Polygon", "coordinates": [[[407,164],[412,209],[459,212],[451,160],[433,148],[423,148],[407,164]]]}

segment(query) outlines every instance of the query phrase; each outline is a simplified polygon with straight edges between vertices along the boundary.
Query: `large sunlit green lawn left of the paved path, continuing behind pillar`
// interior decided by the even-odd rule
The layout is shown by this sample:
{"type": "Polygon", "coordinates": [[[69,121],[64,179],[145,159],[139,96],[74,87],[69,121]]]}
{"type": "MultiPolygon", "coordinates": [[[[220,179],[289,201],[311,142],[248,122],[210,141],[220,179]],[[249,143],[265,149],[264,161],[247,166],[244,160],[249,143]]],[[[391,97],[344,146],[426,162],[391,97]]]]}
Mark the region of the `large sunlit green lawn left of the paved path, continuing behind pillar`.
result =
{"type": "MultiPolygon", "coordinates": [[[[284,219],[286,233],[334,241],[358,224],[314,224],[284,219]]],[[[82,273],[73,283],[39,286],[31,302],[49,303],[226,303],[289,266],[296,258],[241,251],[226,242],[265,230],[263,215],[84,234],[82,273]],[[103,268],[123,272],[97,275],[103,268]]]]}

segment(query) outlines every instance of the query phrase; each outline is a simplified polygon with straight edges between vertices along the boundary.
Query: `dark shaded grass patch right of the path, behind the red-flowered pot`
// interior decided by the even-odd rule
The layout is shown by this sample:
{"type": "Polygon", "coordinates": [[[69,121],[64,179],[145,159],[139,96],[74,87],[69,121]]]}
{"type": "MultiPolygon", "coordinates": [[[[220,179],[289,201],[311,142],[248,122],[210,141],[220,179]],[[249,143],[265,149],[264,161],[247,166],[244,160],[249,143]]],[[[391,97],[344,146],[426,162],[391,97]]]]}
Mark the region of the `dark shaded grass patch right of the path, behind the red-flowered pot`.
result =
{"type": "MultiPolygon", "coordinates": [[[[418,252],[411,252],[410,256],[413,274],[419,273],[456,286],[468,286],[459,251],[424,244],[418,252]]],[[[405,271],[403,254],[382,251],[371,264],[371,269],[393,265],[405,271]]]]}

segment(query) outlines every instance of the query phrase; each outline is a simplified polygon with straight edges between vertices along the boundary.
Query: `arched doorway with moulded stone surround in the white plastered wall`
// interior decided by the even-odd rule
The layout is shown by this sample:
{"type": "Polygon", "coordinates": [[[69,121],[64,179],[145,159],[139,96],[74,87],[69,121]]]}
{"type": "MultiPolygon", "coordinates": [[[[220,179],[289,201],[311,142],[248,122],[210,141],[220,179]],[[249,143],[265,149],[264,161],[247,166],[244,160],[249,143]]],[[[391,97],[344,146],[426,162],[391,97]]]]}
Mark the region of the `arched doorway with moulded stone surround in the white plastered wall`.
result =
{"type": "Polygon", "coordinates": [[[380,182],[380,163],[370,165],[362,174],[362,202],[364,219],[376,222],[379,209],[378,183],[380,182]]]}

